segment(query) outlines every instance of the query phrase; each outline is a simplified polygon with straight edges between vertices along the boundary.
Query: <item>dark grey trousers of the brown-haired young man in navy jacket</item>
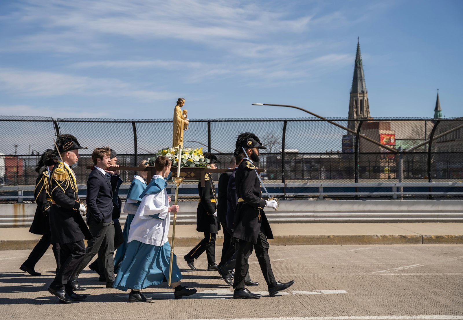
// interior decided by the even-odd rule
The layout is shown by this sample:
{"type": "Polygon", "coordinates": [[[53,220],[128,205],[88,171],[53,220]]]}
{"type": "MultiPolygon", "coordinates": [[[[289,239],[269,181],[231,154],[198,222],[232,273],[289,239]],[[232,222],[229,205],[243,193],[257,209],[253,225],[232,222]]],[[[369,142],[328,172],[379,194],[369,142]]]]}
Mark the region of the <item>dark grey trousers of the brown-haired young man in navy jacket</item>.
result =
{"type": "Polygon", "coordinates": [[[114,222],[96,223],[89,220],[88,229],[94,238],[88,240],[85,257],[75,269],[72,279],[77,279],[98,253],[98,256],[103,259],[103,267],[100,269],[101,276],[105,276],[106,281],[114,281],[114,222]]]}

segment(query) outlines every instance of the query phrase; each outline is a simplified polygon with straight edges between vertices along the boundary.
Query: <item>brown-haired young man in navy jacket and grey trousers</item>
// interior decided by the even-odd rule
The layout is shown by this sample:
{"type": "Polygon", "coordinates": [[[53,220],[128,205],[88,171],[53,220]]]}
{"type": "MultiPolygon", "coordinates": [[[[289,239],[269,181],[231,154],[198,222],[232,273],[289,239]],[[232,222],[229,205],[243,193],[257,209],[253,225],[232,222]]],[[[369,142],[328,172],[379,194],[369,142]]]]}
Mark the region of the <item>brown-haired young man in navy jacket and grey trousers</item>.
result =
{"type": "MultiPolygon", "coordinates": [[[[75,288],[85,290],[77,282],[81,271],[98,253],[103,259],[101,276],[106,278],[106,288],[113,288],[114,282],[114,222],[113,222],[113,187],[105,170],[110,166],[111,150],[109,147],[95,148],[92,153],[94,169],[87,180],[87,224],[94,239],[88,241],[87,252],[75,269],[72,283],[75,288]]],[[[77,290],[78,290],[77,289],[77,290]]]]}

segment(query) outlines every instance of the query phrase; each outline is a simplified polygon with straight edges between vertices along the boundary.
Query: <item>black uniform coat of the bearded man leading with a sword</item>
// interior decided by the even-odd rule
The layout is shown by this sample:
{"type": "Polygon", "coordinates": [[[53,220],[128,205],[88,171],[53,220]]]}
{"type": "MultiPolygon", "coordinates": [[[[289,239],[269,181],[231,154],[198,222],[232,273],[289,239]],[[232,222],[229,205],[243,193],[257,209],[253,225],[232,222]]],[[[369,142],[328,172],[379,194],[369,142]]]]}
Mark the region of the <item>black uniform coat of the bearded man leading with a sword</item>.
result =
{"type": "Polygon", "coordinates": [[[238,206],[233,237],[251,243],[257,242],[259,230],[263,231],[267,239],[273,239],[272,229],[263,211],[266,203],[262,199],[262,185],[254,168],[255,166],[244,158],[235,173],[238,206]]]}

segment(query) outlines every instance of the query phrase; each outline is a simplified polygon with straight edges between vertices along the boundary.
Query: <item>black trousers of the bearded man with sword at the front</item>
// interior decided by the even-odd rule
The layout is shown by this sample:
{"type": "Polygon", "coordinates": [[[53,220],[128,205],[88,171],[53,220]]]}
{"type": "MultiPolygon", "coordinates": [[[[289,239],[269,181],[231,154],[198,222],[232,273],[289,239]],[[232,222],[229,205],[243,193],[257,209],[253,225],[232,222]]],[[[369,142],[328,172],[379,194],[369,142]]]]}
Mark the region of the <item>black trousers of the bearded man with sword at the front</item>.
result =
{"type": "Polygon", "coordinates": [[[233,288],[235,289],[244,289],[245,277],[249,271],[248,259],[252,253],[253,247],[256,250],[257,261],[259,261],[265,282],[269,286],[275,284],[275,276],[273,275],[272,266],[270,265],[269,242],[262,230],[259,230],[257,243],[254,244],[243,240],[238,241],[235,278],[233,280],[233,288]]]}

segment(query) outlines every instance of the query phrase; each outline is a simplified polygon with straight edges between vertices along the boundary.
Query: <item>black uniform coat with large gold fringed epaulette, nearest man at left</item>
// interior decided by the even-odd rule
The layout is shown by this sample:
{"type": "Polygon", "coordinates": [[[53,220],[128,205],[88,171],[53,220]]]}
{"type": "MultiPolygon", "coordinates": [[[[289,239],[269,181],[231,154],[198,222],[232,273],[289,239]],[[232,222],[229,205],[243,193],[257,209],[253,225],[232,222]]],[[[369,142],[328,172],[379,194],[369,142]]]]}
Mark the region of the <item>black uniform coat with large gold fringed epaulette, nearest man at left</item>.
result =
{"type": "Polygon", "coordinates": [[[55,202],[50,208],[51,243],[70,243],[93,239],[79,211],[77,185],[69,169],[57,163],[51,173],[51,198],[55,202]]]}

